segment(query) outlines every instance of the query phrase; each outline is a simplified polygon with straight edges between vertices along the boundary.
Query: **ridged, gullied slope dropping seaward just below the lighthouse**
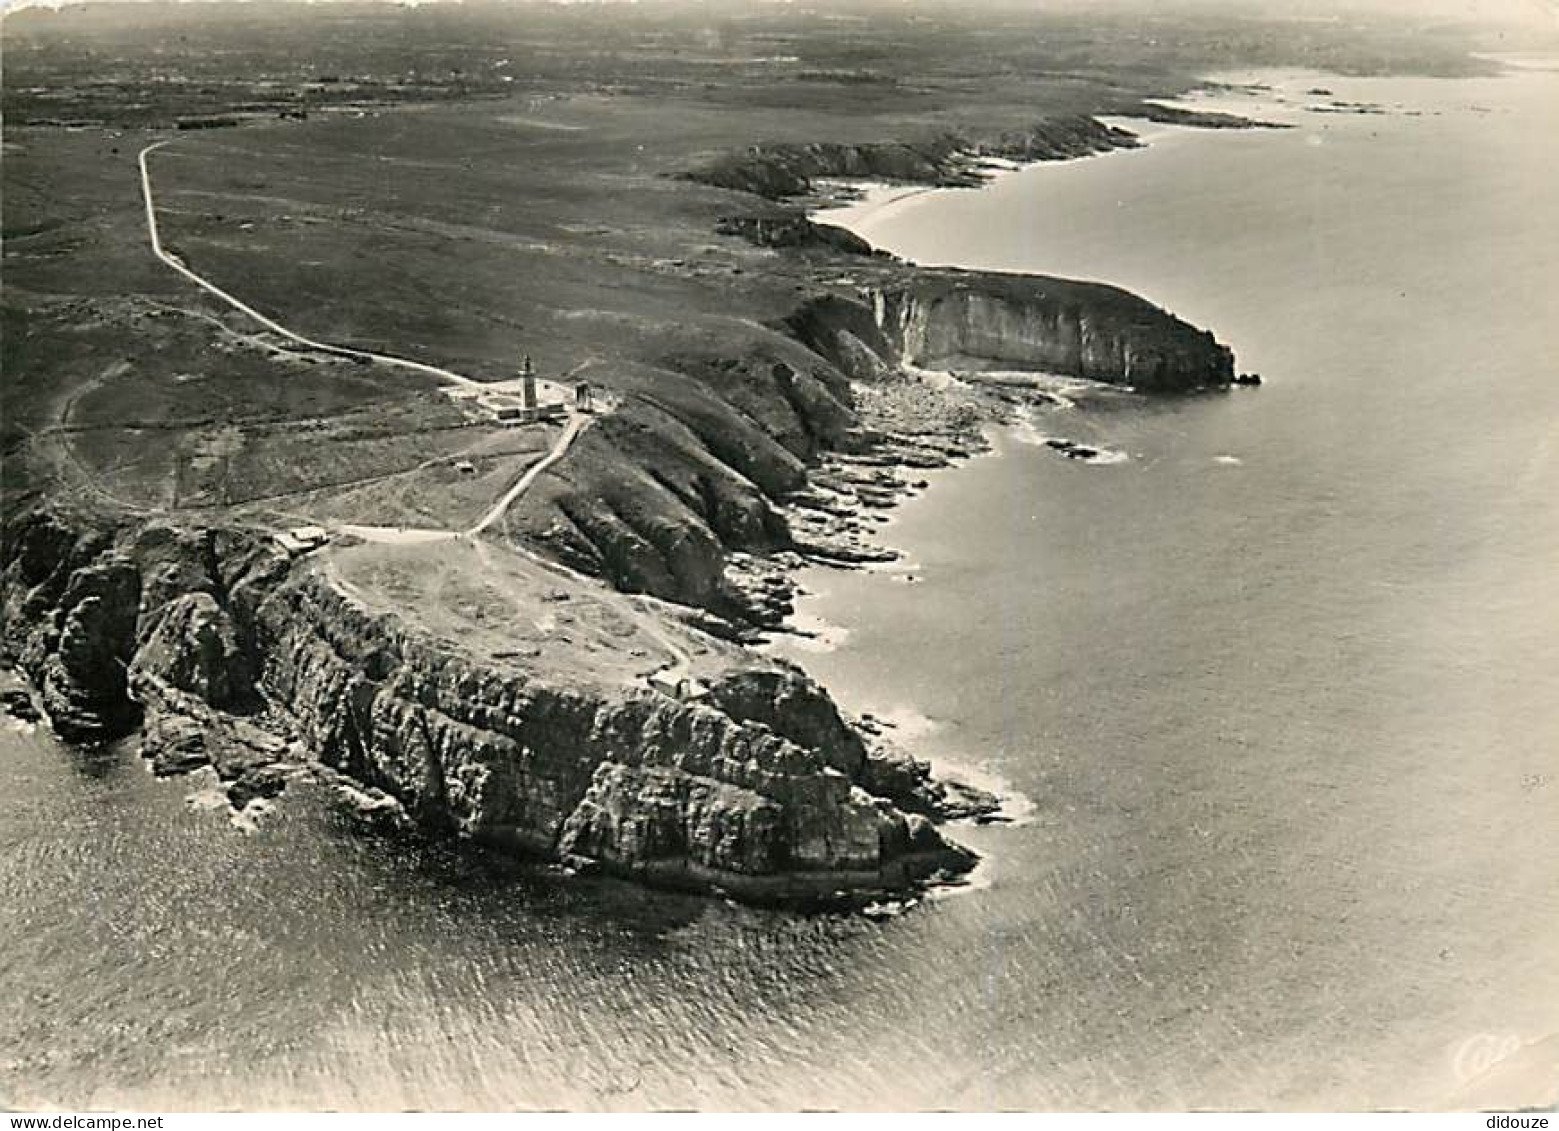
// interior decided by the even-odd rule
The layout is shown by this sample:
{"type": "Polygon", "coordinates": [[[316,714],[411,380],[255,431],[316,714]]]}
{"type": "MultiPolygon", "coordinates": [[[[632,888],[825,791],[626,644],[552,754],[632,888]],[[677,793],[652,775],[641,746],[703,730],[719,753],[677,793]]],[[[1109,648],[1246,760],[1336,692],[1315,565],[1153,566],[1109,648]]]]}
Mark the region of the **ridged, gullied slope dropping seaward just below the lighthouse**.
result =
{"type": "Polygon", "coordinates": [[[575,443],[567,484],[535,493],[530,541],[616,588],[748,619],[731,551],[790,544],[781,502],[856,427],[848,378],[781,329],[659,359],[624,410],[575,443]]]}

